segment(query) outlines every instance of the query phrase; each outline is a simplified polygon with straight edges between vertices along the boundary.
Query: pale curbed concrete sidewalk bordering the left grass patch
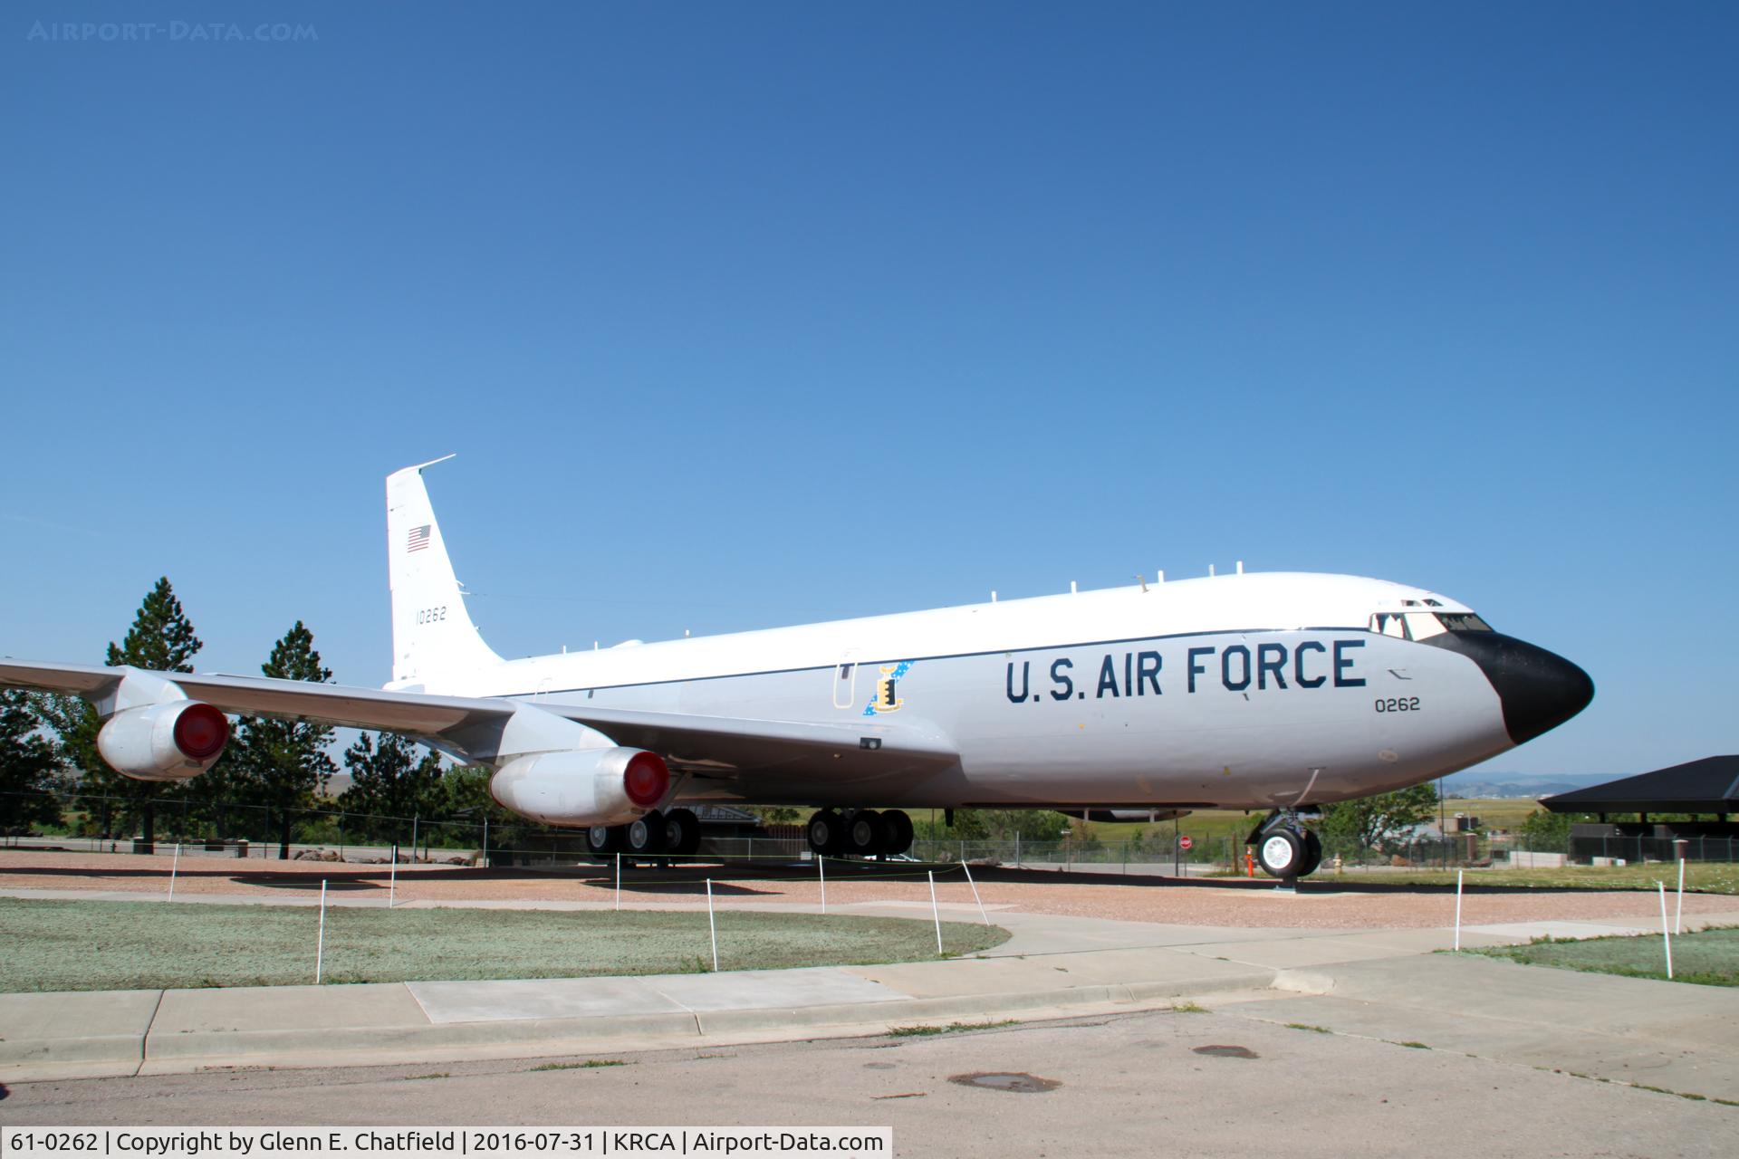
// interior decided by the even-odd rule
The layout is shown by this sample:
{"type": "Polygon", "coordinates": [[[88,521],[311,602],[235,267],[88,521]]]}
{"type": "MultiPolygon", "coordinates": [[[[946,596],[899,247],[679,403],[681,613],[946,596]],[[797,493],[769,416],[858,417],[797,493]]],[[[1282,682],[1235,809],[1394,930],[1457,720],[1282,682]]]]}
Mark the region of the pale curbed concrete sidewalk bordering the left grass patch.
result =
{"type": "MultiPolygon", "coordinates": [[[[911,916],[897,904],[833,909],[911,916]]],[[[967,914],[955,907],[946,916],[967,914]]],[[[1268,968],[1170,949],[1205,931],[1031,914],[998,919],[1016,937],[996,956],[937,963],[640,978],[5,994],[0,1081],[880,1034],[922,1022],[1165,1006],[1184,996],[1263,989],[1275,977],[1268,968]]]]}

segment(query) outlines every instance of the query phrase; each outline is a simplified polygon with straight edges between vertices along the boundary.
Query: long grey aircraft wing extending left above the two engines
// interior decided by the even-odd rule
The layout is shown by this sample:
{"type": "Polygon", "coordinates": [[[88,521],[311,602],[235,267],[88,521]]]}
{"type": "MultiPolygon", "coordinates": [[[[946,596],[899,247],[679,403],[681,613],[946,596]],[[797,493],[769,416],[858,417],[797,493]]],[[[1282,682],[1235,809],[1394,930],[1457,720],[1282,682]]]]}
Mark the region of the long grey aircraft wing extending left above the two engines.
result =
{"type": "MultiPolygon", "coordinates": [[[[0,660],[0,685],[77,693],[92,702],[113,695],[132,669],[0,660]]],[[[315,685],[266,676],[153,672],[188,697],[238,716],[310,719],[421,737],[466,759],[489,759],[490,744],[516,712],[569,719],[621,745],[649,749],[699,777],[753,773],[882,778],[925,775],[958,761],[953,745],[922,723],[889,725],[776,721],[685,712],[591,709],[499,697],[438,697],[315,685]]]]}

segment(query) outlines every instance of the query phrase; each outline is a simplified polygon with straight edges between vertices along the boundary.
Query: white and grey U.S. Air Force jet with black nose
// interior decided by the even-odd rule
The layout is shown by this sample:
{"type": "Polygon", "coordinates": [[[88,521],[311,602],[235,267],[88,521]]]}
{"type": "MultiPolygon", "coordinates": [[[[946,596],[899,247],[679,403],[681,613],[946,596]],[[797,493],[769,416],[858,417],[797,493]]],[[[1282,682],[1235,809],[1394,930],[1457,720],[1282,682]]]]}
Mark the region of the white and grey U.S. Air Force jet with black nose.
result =
{"type": "Polygon", "coordinates": [[[1483,761],[1595,693],[1454,599],[1313,573],[503,660],[466,613],[428,466],[386,480],[383,690],[16,660],[0,683],[89,699],[104,759],[141,780],[209,768],[226,714],[405,733],[492,765],[496,801],[586,827],[600,853],[694,851],[703,801],[812,806],[810,846],[859,855],[906,850],[908,808],[1240,808],[1268,810],[1250,839],[1280,878],[1322,860],[1299,810],[1483,761]]]}

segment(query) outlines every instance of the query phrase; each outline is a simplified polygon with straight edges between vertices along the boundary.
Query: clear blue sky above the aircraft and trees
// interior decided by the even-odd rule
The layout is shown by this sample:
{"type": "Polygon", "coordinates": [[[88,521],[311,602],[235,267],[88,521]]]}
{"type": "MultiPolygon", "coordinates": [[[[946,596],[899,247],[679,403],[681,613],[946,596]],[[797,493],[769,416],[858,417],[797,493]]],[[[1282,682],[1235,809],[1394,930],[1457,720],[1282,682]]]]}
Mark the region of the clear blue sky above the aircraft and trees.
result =
{"type": "Polygon", "coordinates": [[[381,683],[381,480],[459,452],[506,655],[1245,560],[1582,664],[1494,768],[1730,752],[1736,52],[1727,3],[9,5],[0,652],[97,660],[167,573],[205,667],[303,619],[381,683]]]}

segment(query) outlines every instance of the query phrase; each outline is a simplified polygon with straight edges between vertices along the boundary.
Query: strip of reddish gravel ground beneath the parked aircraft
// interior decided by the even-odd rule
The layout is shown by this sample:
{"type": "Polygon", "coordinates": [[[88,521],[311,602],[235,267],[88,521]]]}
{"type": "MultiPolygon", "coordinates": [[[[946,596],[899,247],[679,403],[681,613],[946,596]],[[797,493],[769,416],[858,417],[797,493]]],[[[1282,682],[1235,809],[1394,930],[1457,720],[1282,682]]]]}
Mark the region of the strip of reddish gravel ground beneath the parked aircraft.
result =
{"type": "MultiPolygon", "coordinates": [[[[0,890],[108,890],[165,893],[170,857],[132,853],[49,853],[0,850],[0,890]]],[[[1666,872],[1666,871],[1662,871],[1666,872]]],[[[857,869],[828,864],[828,902],[929,902],[925,869],[913,864],[857,869]]],[[[798,902],[814,905],[821,891],[812,869],[741,869],[678,865],[670,871],[624,872],[623,904],[696,902],[704,879],[713,878],[720,905],[732,900],[798,902]],[[734,876],[732,876],[734,874],[734,876]]],[[[343,862],[271,862],[190,855],[181,858],[176,893],[306,897],[327,878],[337,897],[388,888],[386,865],[343,862]]],[[[1024,912],[1155,921],[1186,926],[1257,926],[1386,930],[1449,926],[1456,916],[1454,890],[1445,886],[1365,883],[1311,878],[1297,895],[1276,893],[1271,881],[1115,878],[1012,869],[974,869],[986,905],[1024,912]]],[[[1596,917],[1659,917],[1659,898],[1649,891],[1534,890],[1468,886],[1462,923],[1576,921],[1596,917]]],[[[482,871],[447,865],[402,865],[396,895],[403,902],[609,902],[614,893],[609,867],[576,871],[482,871]]],[[[972,904],[958,867],[937,871],[936,891],[944,904],[972,904]]],[[[383,898],[384,900],[384,898],[383,898]]],[[[1685,895],[1685,914],[1739,912],[1739,898],[1685,895]]]]}

